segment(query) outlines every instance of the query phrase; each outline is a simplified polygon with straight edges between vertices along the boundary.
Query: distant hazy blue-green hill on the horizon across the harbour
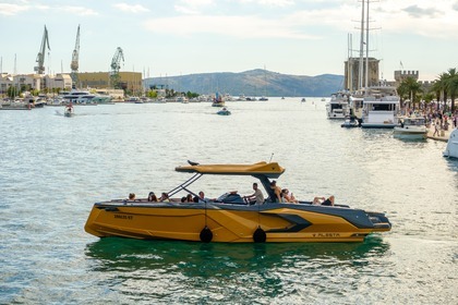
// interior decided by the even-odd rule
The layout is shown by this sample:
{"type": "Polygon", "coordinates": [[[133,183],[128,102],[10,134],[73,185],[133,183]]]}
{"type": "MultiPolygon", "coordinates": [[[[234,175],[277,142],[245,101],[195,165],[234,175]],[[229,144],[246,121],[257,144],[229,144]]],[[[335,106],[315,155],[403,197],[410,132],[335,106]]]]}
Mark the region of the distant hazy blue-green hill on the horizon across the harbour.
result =
{"type": "Polygon", "coordinates": [[[327,97],[342,88],[343,76],[288,75],[262,69],[241,73],[219,72],[145,78],[146,87],[156,85],[177,91],[230,94],[232,96],[314,96],[327,97]]]}

